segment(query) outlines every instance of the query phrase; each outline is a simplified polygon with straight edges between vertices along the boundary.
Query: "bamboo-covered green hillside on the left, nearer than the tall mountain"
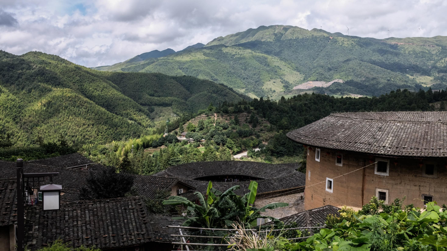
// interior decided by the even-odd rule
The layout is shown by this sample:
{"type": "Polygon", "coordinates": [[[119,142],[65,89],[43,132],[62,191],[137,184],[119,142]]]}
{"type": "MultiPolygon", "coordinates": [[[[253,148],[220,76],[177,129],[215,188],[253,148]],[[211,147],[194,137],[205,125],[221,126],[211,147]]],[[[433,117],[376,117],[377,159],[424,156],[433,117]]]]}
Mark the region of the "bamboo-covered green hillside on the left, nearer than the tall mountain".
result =
{"type": "Polygon", "coordinates": [[[0,136],[16,146],[60,135],[105,143],[148,134],[154,108],[197,112],[248,97],[209,80],[160,73],[96,71],[55,55],[0,50],[0,136]]]}

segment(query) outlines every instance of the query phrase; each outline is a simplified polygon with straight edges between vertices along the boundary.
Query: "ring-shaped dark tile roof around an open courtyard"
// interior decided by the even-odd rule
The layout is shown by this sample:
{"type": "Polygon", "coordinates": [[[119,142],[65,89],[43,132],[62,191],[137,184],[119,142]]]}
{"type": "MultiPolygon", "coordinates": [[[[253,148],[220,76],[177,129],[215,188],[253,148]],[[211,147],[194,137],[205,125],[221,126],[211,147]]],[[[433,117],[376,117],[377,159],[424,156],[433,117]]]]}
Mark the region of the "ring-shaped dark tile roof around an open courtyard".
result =
{"type": "MultiPolygon", "coordinates": [[[[185,184],[189,184],[199,192],[206,192],[208,181],[194,180],[205,176],[216,175],[245,175],[261,178],[257,180],[257,192],[273,192],[289,188],[298,188],[305,185],[304,173],[295,171],[291,167],[259,163],[253,161],[206,161],[193,162],[169,167],[156,173],[154,176],[175,177],[185,184]]],[[[249,192],[250,181],[240,182],[214,182],[213,187],[219,191],[225,191],[232,186],[239,185],[236,194],[249,192]]]]}

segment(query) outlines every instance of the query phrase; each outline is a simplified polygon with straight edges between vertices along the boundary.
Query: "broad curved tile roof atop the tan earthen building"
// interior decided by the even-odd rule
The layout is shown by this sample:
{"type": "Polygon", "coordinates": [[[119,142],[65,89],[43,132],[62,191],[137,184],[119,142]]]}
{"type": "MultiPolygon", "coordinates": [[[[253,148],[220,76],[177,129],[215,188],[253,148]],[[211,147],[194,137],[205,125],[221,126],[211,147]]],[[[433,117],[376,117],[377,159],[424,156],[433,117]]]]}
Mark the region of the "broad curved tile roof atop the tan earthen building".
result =
{"type": "Polygon", "coordinates": [[[338,150],[447,157],[447,112],[332,113],[287,137],[304,145],[338,150]]]}

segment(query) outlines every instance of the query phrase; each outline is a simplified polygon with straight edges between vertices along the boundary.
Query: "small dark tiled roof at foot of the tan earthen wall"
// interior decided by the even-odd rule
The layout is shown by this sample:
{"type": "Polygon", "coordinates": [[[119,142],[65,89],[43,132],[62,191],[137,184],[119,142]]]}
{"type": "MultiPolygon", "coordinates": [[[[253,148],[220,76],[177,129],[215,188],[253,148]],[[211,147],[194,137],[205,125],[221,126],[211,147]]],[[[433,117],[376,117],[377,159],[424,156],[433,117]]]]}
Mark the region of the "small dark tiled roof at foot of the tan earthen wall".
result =
{"type": "Polygon", "coordinates": [[[284,222],[285,225],[296,222],[296,227],[324,226],[326,222],[326,216],[328,214],[340,215],[340,213],[338,213],[338,210],[340,209],[337,207],[326,205],[301,213],[295,213],[279,220],[284,222]]]}

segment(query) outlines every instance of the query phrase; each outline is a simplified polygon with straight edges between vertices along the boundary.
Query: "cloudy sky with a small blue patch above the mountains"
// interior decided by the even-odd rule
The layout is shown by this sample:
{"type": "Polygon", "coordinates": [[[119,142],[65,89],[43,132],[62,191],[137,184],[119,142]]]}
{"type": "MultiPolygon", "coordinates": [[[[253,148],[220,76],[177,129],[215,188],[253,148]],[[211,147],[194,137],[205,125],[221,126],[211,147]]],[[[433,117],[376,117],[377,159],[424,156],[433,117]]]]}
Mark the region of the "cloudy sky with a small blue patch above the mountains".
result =
{"type": "Polygon", "coordinates": [[[443,0],[0,0],[0,50],[38,50],[87,67],[181,50],[260,25],[387,38],[447,36],[443,0]],[[418,30],[421,26],[421,30],[418,30]]]}

